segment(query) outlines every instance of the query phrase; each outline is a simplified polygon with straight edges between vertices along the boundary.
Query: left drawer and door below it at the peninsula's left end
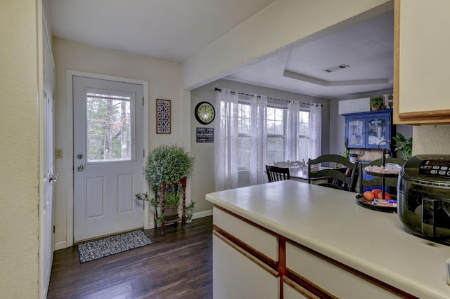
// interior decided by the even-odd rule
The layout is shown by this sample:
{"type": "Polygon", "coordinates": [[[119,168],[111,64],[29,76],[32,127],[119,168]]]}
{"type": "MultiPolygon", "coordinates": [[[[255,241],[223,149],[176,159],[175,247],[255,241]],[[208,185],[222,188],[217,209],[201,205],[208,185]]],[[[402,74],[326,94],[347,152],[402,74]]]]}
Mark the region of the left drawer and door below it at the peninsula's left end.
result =
{"type": "Polygon", "coordinates": [[[278,298],[278,237],[217,207],[213,211],[214,299],[278,298]]]}

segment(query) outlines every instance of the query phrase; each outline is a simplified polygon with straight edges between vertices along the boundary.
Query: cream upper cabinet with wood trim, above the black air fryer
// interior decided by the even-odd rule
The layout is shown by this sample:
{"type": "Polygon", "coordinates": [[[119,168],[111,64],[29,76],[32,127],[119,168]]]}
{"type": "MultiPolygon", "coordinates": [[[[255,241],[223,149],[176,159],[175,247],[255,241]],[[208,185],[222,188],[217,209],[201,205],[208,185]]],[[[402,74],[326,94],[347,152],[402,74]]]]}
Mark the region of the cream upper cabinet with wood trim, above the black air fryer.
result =
{"type": "Polygon", "coordinates": [[[394,2],[394,124],[450,124],[450,1],[394,2]]]}

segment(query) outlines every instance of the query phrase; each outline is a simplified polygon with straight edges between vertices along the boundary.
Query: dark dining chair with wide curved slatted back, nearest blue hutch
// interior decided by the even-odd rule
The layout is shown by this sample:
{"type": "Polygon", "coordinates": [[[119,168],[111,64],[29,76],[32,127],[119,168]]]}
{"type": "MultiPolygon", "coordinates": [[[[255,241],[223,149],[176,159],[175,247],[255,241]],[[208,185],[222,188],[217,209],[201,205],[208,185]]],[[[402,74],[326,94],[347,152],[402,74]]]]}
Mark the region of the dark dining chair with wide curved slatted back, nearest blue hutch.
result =
{"type": "Polygon", "coordinates": [[[338,154],[323,154],[317,159],[308,159],[308,182],[311,184],[314,178],[326,178],[327,182],[317,185],[354,192],[358,180],[358,164],[358,162],[352,163],[338,154]],[[321,163],[341,164],[345,167],[311,171],[311,166],[321,163]]]}

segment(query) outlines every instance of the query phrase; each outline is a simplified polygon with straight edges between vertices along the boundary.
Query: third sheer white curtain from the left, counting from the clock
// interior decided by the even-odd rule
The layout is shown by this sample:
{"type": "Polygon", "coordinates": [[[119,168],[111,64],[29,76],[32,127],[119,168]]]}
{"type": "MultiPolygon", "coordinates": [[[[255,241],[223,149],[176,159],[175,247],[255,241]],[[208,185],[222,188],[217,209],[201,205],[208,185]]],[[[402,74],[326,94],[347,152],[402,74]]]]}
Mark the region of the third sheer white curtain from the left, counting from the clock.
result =
{"type": "Polygon", "coordinates": [[[290,101],[286,112],[286,160],[297,161],[300,150],[298,145],[300,102],[290,101]]]}

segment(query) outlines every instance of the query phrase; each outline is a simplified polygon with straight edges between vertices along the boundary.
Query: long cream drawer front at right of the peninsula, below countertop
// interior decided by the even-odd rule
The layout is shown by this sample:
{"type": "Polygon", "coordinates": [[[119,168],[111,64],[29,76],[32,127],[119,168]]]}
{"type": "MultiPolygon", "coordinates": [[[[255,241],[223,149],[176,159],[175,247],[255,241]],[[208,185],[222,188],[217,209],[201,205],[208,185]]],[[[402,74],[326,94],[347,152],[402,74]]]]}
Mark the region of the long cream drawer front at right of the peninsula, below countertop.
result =
{"type": "Polygon", "coordinates": [[[286,268],[338,298],[399,298],[385,288],[290,243],[286,243],[286,268]]]}

